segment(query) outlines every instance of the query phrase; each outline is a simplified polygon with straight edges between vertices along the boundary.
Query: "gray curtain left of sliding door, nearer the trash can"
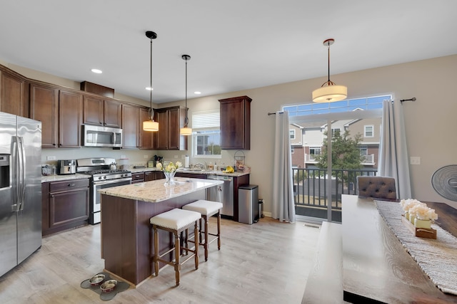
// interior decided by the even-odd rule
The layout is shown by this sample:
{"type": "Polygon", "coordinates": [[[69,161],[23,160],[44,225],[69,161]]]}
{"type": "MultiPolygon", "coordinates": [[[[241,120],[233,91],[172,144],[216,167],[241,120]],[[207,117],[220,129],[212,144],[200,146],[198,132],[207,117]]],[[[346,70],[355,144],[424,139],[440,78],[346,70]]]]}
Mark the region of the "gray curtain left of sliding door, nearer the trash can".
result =
{"type": "Polygon", "coordinates": [[[273,219],[295,222],[291,137],[287,111],[276,112],[272,206],[273,219]]]}

